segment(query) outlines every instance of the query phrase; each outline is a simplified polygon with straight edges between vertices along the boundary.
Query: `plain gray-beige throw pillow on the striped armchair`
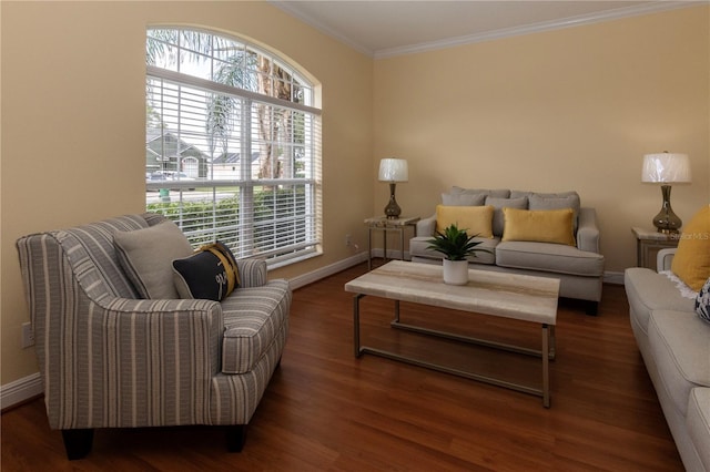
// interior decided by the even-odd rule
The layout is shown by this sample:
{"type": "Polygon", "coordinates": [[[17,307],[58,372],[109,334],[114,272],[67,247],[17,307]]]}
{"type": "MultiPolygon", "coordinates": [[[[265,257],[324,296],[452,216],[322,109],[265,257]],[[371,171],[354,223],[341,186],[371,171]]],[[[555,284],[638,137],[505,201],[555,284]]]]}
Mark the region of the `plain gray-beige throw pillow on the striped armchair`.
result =
{"type": "Polygon", "coordinates": [[[172,263],[193,250],[178,225],[166,220],[150,228],[116,232],[113,244],[121,267],[142,298],[180,298],[172,263]]]}

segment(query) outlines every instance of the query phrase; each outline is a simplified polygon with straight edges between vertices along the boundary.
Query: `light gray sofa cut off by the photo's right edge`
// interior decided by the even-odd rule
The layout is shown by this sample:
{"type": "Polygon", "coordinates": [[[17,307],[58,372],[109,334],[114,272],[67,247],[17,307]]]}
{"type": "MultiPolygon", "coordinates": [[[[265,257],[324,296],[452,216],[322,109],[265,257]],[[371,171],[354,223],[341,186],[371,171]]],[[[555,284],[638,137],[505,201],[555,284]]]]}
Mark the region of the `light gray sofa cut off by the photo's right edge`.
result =
{"type": "Polygon", "coordinates": [[[658,270],[625,271],[633,336],[686,470],[710,471],[710,325],[669,278],[676,249],[658,255],[658,270]]]}

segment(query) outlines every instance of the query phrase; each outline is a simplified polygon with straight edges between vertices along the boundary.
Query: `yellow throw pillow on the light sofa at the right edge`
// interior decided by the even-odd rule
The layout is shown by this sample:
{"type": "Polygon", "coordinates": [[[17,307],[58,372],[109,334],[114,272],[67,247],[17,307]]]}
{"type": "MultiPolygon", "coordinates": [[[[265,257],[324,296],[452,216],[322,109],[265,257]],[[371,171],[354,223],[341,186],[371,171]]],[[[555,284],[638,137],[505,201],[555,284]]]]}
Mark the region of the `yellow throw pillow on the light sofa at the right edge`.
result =
{"type": "Polygon", "coordinates": [[[670,269],[696,291],[710,278],[710,205],[686,225],[670,269]]]}

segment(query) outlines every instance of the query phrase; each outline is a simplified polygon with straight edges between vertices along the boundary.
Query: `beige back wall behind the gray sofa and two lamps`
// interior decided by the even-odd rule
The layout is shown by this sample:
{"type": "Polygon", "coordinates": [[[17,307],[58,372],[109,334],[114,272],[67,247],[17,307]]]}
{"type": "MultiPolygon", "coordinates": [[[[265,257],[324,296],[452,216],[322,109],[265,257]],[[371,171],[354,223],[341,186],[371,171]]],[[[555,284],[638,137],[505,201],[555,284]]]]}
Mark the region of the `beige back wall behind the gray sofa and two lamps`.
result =
{"type": "MultiPolygon", "coordinates": [[[[576,189],[597,208],[608,271],[636,265],[631,226],[652,228],[658,186],[642,155],[684,152],[674,186],[688,222],[710,201],[708,7],[375,61],[373,174],[408,160],[397,202],[428,216],[452,185],[576,189]]],[[[374,209],[386,203],[375,186],[374,209]]]]}

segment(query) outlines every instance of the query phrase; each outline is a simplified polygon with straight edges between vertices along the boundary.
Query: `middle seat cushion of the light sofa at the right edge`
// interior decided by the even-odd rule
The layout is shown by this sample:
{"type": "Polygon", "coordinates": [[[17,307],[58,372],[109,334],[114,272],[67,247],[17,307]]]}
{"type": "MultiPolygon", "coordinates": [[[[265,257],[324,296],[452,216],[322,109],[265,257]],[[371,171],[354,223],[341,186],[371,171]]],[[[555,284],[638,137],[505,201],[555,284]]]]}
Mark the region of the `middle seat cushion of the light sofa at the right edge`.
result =
{"type": "Polygon", "coordinates": [[[648,340],[661,383],[656,388],[665,389],[687,417],[690,391],[710,387],[710,326],[691,310],[653,310],[648,340]]]}

